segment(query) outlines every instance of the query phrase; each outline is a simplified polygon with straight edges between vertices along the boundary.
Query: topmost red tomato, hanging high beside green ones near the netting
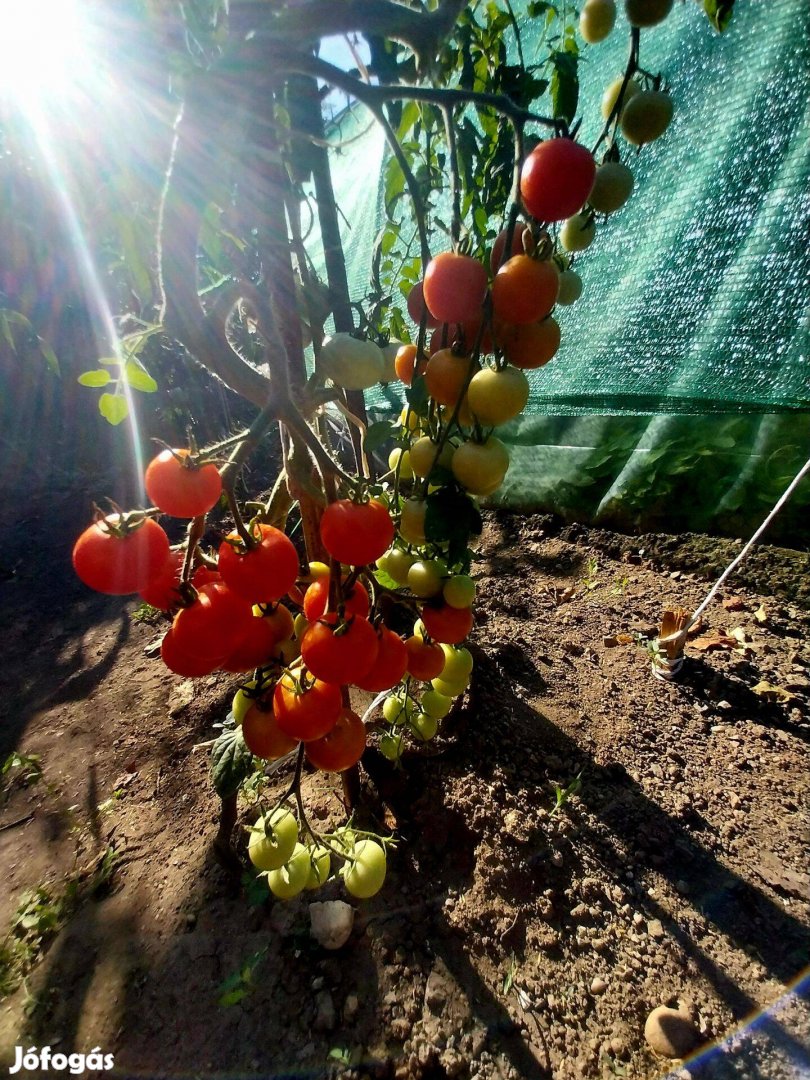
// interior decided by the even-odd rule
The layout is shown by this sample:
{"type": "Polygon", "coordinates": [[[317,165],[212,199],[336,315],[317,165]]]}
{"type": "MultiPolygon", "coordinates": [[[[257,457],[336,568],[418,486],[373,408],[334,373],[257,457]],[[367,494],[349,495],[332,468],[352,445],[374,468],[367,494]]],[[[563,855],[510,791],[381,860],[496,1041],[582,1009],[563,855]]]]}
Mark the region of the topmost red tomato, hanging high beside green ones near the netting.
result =
{"type": "Polygon", "coordinates": [[[591,194],[596,162],[591,151],[569,138],[550,138],[523,164],[521,194],[538,221],[563,221],[581,210],[591,194]]]}

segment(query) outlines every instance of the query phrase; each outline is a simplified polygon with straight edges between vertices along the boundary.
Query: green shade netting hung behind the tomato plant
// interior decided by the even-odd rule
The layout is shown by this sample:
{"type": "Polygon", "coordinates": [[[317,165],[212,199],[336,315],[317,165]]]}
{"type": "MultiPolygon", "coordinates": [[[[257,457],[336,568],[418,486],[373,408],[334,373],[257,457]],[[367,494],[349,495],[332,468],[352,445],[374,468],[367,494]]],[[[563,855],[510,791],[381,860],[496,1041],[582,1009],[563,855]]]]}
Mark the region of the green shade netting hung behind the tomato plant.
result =
{"type": "MultiPolygon", "coordinates": [[[[589,145],[603,89],[624,68],[621,29],[620,15],[580,66],[589,145]]],[[[524,23],[527,57],[532,32],[524,23]]],[[[640,59],[671,84],[675,119],[658,143],[627,156],[634,194],[577,258],[584,293],[557,313],[559,352],[529,373],[526,414],[499,432],[513,463],[497,501],[579,519],[744,531],[810,447],[806,2],[738,2],[723,36],[700,5],[677,4],[643,31],[640,59]]],[[[361,296],[383,219],[386,150],[362,111],[351,124],[341,134],[354,140],[333,166],[351,222],[349,280],[361,296]]],[[[384,414],[399,399],[383,390],[368,403],[384,414]]],[[[810,502],[809,488],[794,508],[810,502]]],[[[810,537],[806,516],[788,514],[794,540],[810,537]]]]}

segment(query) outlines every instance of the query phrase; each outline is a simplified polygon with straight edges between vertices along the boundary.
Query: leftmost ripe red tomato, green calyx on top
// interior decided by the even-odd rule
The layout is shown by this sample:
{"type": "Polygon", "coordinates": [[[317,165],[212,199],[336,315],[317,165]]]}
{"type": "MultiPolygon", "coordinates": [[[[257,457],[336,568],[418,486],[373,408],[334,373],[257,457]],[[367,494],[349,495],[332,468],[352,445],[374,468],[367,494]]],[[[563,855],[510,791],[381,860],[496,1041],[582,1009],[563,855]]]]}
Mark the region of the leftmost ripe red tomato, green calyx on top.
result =
{"type": "Polygon", "coordinates": [[[146,589],[162,575],[170,557],[168,537],[151,517],[120,534],[116,531],[119,519],[118,514],[108,514],[73,544],[78,576],[85,585],[110,596],[146,589]]]}

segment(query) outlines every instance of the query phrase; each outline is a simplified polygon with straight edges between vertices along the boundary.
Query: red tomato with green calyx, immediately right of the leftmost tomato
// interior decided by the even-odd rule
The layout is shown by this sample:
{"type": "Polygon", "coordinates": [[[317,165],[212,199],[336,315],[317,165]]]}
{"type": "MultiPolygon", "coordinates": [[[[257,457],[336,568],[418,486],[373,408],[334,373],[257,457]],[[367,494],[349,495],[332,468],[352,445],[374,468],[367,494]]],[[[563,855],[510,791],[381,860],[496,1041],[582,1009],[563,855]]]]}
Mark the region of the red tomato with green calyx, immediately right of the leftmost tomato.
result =
{"type": "Polygon", "coordinates": [[[259,525],[259,543],[245,552],[238,532],[219,545],[219,572],[234,593],[252,604],[270,604],[295,585],[298,552],[281,529],[259,525]]]}

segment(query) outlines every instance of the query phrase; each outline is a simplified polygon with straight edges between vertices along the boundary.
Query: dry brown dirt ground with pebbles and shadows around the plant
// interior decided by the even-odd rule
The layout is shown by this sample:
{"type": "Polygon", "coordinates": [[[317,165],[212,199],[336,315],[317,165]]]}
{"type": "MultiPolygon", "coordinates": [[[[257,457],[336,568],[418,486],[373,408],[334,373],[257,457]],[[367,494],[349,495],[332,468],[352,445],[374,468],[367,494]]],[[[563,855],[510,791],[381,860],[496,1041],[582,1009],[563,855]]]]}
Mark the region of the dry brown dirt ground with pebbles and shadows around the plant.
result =
{"type": "MultiPolygon", "coordinates": [[[[726,646],[666,684],[638,635],[739,545],[488,515],[471,690],[404,771],[372,756],[361,814],[401,842],[327,953],[311,895],[257,900],[212,858],[198,744],[235,677],[167,675],[135,603],[73,580],[86,504],[3,537],[0,762],[42,772],[0,795],[0,1068],[50,1044],[120,1077],[810,1076],[806,554],[762,548],[707,612],[726,646]],[[673,1002],[686,1063],[645,1041],[673,1002]]],[[[334,781],[306,792],[340,820],[334,781]]]]}

